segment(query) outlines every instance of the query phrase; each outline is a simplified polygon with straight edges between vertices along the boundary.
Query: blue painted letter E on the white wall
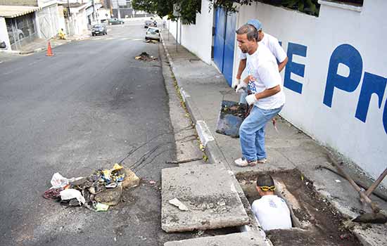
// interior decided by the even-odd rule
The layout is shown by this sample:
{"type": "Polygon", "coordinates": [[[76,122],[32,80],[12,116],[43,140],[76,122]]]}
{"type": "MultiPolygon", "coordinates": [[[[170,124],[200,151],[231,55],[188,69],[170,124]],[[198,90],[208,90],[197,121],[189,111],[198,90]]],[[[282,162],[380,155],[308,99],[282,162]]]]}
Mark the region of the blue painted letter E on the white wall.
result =
{"type": "Polygon", "coordinates": [[[291,79],[291,73],[304,77],[305,65],[299,63],[293,63],[293,55],[306,57],[307,47],[301,44],[288,43],[288,64],[285,67],[284,86],[297,93],[302,93],[303,84],[291,79]]]}

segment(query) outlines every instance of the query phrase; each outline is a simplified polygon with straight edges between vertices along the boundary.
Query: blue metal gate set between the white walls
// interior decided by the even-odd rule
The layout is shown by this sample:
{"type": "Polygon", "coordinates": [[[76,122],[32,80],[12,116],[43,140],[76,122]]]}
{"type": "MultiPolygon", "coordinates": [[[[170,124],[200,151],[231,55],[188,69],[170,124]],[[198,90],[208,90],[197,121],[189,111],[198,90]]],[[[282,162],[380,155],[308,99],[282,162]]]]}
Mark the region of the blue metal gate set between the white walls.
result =
{"type": "Polygon", "coordinates": [[[214,62],[231,86],[234,67],[236,13],[215,12],[214,62]]]}

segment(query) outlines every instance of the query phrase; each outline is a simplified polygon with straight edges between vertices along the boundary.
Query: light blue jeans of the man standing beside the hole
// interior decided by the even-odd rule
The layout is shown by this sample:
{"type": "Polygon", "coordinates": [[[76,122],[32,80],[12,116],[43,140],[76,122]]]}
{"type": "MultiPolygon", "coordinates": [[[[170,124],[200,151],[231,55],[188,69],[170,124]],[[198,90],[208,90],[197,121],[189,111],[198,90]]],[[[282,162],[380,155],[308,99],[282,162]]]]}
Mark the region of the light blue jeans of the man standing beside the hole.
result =
{"type": "Polygon", "coordinates": [[[266,158],[265,151],[265,125],[277,115],[283,106],[273,110],[264,110],[253,106],[250,115],[243,120],[239,128],[242,155],[248,161],[266,158]]]}

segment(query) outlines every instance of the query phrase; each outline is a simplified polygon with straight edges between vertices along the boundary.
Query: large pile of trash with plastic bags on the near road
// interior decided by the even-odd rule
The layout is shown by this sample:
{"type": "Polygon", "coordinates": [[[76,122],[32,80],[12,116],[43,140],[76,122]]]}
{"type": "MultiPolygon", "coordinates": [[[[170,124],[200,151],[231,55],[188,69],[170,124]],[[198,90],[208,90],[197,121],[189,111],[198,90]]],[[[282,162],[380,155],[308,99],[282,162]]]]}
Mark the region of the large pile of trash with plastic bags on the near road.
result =
{"type": "Polygon", "coordinates": [[[43,197],[65,206],[83,206],[93,211],[106,211],[121,200],[122,189],[139,186],[139,177],[120,164],[112,169],[98,169],[87,177],[67,179],[55,173],[52,187],[43,197]]]}

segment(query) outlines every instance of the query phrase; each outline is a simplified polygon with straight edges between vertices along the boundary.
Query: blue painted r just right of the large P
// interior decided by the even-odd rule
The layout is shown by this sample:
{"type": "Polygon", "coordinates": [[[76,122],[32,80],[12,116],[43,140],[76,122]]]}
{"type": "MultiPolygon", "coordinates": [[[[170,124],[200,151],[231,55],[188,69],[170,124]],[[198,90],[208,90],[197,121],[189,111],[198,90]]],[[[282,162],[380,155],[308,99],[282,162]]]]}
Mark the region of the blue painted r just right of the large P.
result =
{"type": "Polygon", "coordinates": [[[355,114],[357,119],[360,119],[362,122],[365,122],[367,119],[369,101],[371,101],[372,93],[375,93],[378,96],[378,106],[379,108],[381,107],[386,84],[386,78],[364,72],[362,90],[360,91],[359,102],[357,102],[355,114]]]}

